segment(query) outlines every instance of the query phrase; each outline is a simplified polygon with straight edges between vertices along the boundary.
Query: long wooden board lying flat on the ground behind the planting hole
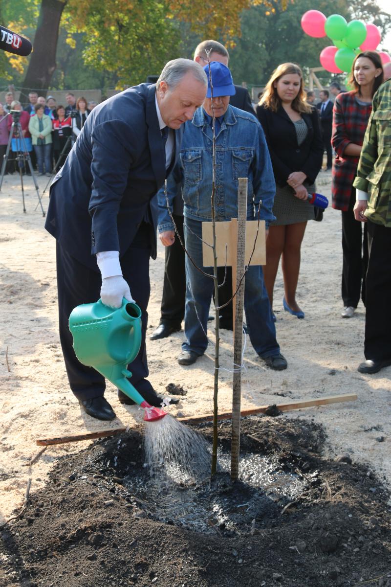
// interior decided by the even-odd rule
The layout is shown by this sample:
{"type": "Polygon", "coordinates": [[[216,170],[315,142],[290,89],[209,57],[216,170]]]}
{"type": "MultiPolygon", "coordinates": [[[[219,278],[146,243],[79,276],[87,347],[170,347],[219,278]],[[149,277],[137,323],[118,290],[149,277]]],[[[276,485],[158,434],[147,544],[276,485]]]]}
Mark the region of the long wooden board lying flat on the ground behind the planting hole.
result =
{"type": "MultiPolygon", "coordinates": [[[[341,396],[328,396],[314,400],[301,400],[300,402],[291,402],[286,404],[277,404],[276,408],[280,411],[301,410],[304,407],[325,406],[332,403],[339,402],[355,402],[357,396],[355,393],[344,394],[341,396]]],[[[250,410],[242,410],[240,416],[254,416],[255,414],[264,414],[270,407],[259,406],[250,410]]],[[[218,420],[229,420],[232,418],[232,412],[228,411],[217,416],[218,420]]],[[[203,416],[188,416],[184,418],[177,418],[178,421],[184,424],[198,424],[199,422],[208,422],[213,420],[213,414],[204,414],[203,416]]],[[[68,442],[80,442],[82,440],[93,440],[94,438],[105,438],[106,436],[116,436],[128,430],[126,428],[113,428],[111,430],[101,430],[100,432],[87,432],[85,434],[74,434],[69,436],[57,436],[54,438],[40,438],[36,440],[38,446],[51,446],[52,444],[64,444],[68,442]]]]}

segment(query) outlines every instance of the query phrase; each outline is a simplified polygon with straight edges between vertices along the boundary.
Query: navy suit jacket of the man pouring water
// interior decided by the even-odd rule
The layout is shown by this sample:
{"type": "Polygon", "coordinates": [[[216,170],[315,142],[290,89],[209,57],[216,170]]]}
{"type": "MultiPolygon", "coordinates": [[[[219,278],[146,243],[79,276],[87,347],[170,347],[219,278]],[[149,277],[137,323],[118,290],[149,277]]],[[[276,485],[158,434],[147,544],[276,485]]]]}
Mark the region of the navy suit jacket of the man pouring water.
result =
{"type": "Polygon", "coordinates": [[[129,245],[142,220],[151,227],[156,257],[157,200],[152,200],[179,155],[165,168],[155,107],[155,84],[142,83],[96,106],[50,187],[45,228],[74,258],[98,271],[96,253],[129,245]]]}

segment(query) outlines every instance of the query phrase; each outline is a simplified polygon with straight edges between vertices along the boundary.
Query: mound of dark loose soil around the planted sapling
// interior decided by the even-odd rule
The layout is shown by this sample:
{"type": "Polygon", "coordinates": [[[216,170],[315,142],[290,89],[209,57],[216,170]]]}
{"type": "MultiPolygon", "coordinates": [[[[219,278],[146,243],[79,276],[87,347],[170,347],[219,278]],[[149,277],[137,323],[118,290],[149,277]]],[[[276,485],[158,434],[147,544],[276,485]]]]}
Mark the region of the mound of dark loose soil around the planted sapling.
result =
{"type": "MultiPolygon", "coordinates": [[[[210,424],[198,429],[210,438],[210,424]]],[[[142,433],[98,441],[56,466],[2,530],[2,587],[391,587],[389,495],[365,467],[322,459],[320,427],[244,419],[243,456],[266,457],[274,481],[255,491],[250,477],[231,485],[220,473],[185,489],[184,508],[220,495],[234,520],[206,515],[203,532],[186,527],[186,517],[163,515],[159,496],[136,491],[136,478],[148,483],[142,433]],[[287,475],[296,484],[291,501],[278,485],[287,475]]],[[[219,434],[227,450],[229,422],[219,434]]]]}

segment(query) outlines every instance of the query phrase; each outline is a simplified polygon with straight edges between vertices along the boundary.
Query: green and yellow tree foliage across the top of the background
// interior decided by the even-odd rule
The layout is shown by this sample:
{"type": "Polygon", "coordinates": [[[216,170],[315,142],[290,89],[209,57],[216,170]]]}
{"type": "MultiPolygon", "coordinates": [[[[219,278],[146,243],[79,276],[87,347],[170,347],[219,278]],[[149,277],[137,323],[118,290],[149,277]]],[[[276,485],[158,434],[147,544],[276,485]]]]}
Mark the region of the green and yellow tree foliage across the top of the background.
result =
{"type": "MultiPolygon", "coordinates": [[[[44,1],[1,3],[5,26],[34,41],[44,1]]],[[[54,1],[54,0],[53,0],[54,1]]],[[[293,60],[319,65],[328,39],[312,39],[301,30],[301,15],[315,8],[326,15],[374,22],[383,33],[391,17],[375,0],[57,0],[64,4],[57,45],[57,69],[51,87],[121,89],[159,73],[168,59],[191,57],[202,39],[218,39],[230,48],[237,82],[259,84],[278,63],[293,60]]],[[[29,60],[0,55],[0,77],[22,85],[29,60]]]]}

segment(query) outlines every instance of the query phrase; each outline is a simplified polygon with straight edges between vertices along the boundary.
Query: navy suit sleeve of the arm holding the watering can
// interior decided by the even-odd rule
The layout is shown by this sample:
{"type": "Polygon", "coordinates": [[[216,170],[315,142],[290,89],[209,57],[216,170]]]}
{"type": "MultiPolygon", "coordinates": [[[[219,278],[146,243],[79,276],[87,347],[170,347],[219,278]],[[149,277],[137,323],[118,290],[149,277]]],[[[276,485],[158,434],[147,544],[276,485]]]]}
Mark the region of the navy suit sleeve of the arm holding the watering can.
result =
{"type": "Polygon", "coordinates": [[[91,135],[91,143],[93,183],[89,212],[94,237],[91,254],[119,251],[117,214],[129,169],[137,158],[138,143],[123,120],[98,124],[91,135]]]}

